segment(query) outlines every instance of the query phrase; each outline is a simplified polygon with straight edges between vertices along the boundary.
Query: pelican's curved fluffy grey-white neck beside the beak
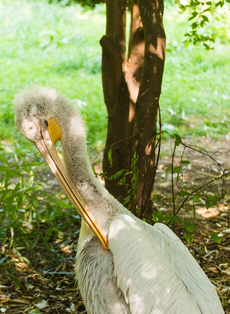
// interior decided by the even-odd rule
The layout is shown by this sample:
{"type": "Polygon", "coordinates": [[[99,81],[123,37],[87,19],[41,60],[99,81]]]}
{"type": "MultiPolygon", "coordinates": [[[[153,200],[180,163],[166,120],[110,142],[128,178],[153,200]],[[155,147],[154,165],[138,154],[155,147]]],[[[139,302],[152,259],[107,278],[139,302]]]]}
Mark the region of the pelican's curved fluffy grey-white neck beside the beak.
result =
{"type": "Polygon", "coordinates": [[[123,206],[96,179],[87,155],[85,128],[78,117],[70,119],[62,132],[62,152],[70,180],[94,218],[107,234],[110,219],[123,206]]]}

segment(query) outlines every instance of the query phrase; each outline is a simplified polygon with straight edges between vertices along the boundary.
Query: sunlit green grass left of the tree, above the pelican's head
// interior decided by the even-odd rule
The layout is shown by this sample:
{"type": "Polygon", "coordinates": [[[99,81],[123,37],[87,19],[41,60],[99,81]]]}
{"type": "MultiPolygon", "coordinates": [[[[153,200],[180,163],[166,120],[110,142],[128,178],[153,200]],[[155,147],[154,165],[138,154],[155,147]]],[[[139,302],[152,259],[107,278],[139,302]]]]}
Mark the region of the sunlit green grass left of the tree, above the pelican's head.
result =
{"type": "Polygon", "coordinates": [[[35,82],[52,86],[81,104],[93,130],[90,143],[102,148],[97,139],[104,138],[106,128],[99,46],[104,15],[98,9],[84,12],[79,6],[60,7],[45,1],[0,3],[1,137],[28,146],[14,126],[12,99],[35,82]]]}

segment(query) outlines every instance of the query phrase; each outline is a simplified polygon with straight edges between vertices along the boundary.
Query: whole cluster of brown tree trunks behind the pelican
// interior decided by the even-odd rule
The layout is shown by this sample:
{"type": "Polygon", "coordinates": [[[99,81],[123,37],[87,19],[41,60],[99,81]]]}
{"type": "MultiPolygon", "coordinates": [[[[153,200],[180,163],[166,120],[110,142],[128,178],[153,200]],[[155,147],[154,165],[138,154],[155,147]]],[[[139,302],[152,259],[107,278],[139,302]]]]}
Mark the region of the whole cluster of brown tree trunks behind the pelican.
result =
{"type": "Polygon", "coordinates": [[[165,57],[164,7],[163,0],[159,1],[160,4],[157,0],[133,0],[127,59],[126,1],[106,1],[106,35],[101,39],[102,82],[108,112],[106,146],[112,147],[112,166],[108,147],[103,170],[110,177],[122,169],[130,170],[135,151],[139,158],[138,184],[134,186],[126,178],[125,186],[120,186],[118,180],[106,180],[105,186],[121,202],[130,189],[130,208],[135,214],[147,207],[153,186],[157,102],[165,57]]]}

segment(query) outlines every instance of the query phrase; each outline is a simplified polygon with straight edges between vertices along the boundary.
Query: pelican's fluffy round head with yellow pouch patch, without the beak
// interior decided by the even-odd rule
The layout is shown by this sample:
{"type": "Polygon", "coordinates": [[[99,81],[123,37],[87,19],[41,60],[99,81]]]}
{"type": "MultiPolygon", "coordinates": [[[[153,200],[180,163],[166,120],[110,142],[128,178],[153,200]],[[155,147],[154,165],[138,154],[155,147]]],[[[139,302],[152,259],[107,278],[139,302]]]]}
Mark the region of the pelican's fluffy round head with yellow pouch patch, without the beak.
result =
{"type": "Polygon", "coordinates": [[[71,101],[55,89],[39,86],[27,88],[17,94],[13,102],[17,128],[34,143],[41,138],[42,130],[46,128],[54,144],[58,139],[61,140],[62,131],[72,116],[78,116],[80,133],[84,129],[79,113],[71,101]]]}

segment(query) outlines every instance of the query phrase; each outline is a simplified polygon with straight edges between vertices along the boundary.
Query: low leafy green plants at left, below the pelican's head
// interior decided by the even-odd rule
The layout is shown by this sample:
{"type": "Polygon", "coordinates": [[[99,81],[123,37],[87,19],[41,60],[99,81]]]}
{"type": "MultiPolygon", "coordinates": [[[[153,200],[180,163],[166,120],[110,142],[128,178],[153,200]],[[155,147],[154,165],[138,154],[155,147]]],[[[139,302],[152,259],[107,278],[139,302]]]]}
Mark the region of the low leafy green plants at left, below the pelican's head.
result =
{"type": "Polygon", "coordinates": [[[8,261],[11,250],[17,247],[33,250],[42,243],[58,262],[50,239],[56,238],[61,245],[68,237],[70,226],[75,224],[78,230],[80,225],[80,216],[67,197],[62,192],[53,192],[49,179],[42,180],[41,172],[49,172],[47,168],[30,153],[0,154],[0,242],[4,247],[0,272],[7,273],[19,288],[21,284],[10,266],[22,261],[30,264],[30,261],[19,252],[19,261],[8,261]]]}

